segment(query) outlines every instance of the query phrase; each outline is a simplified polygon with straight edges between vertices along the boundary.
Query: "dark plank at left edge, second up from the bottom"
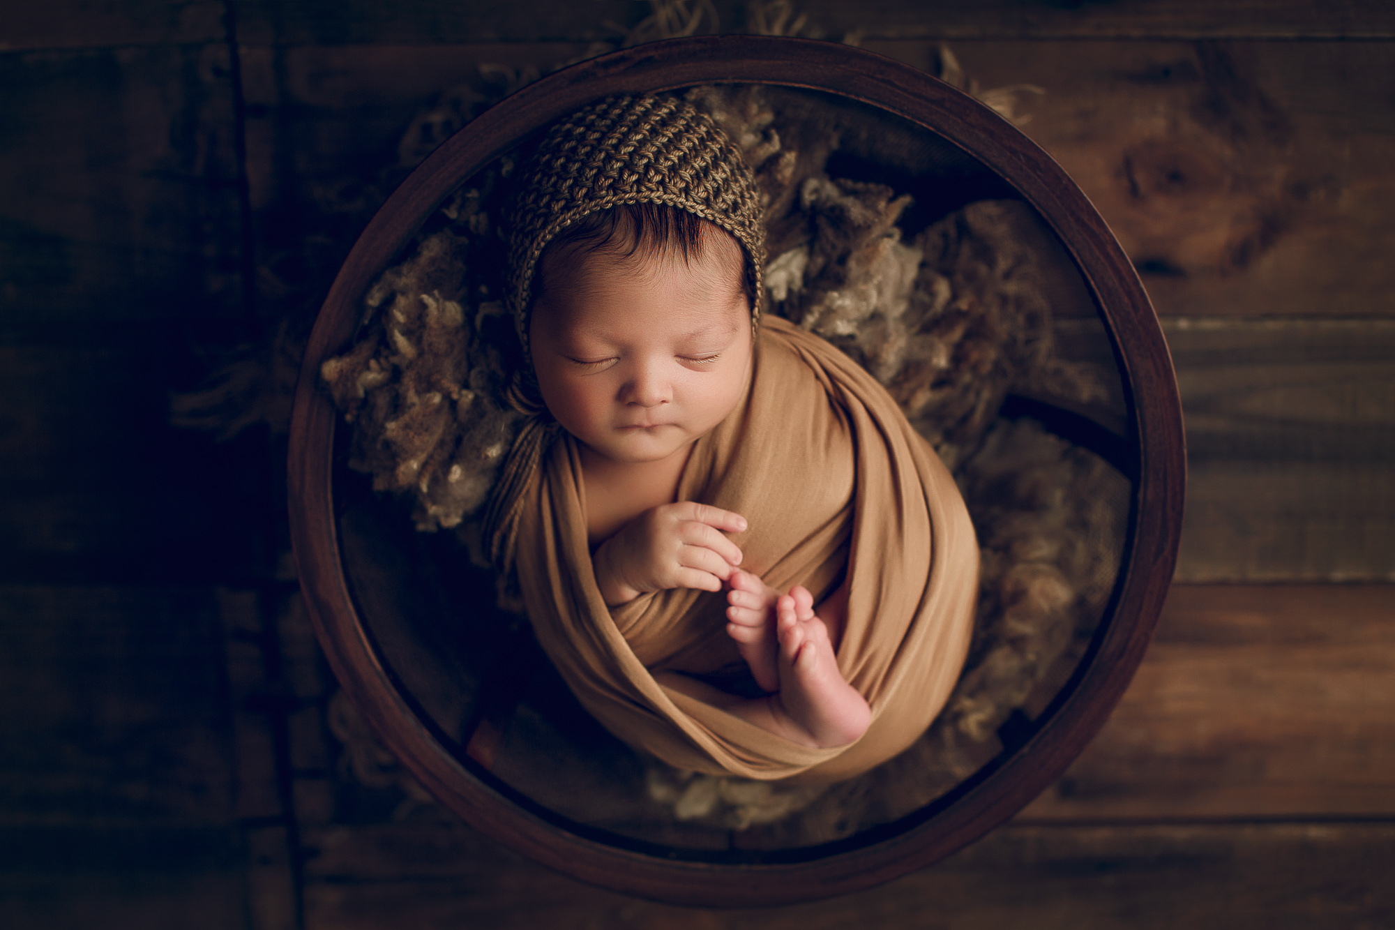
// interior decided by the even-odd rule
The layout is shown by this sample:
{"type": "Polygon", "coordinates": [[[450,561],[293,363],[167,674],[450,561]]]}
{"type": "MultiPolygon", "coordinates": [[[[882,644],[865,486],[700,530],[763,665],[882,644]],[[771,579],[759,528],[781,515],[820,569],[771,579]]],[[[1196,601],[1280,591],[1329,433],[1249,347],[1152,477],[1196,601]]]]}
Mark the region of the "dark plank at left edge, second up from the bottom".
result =
{"type": "Polygon", "coordinates": [[[0,825],[229,825],[222,640],[205,589],[0,586],[0,825]]]}

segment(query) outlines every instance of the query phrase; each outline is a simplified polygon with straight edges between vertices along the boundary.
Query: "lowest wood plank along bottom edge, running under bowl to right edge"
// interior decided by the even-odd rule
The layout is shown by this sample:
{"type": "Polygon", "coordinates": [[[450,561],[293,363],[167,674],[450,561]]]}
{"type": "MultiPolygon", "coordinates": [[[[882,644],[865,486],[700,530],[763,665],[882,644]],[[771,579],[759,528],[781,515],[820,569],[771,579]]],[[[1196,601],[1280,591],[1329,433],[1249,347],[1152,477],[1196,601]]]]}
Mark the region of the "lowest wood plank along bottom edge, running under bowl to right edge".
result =
{"type": "Polygon", "coordinates": [[[675,908],[582,885],[448,822],[311,831],[307,930],[413,926],[1377,927],[1395,825],[1009,825],[880,888],[769,909],[675,908]]]}

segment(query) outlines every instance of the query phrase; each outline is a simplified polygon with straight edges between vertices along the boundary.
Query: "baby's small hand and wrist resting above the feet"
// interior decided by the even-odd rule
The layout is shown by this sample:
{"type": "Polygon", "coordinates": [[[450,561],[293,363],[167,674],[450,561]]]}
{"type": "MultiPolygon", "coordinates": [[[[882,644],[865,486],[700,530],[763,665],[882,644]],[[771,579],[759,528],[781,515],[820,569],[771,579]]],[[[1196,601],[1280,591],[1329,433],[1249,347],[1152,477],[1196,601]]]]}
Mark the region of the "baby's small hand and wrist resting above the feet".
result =
{"type": "Polygon", "coordinates": [[[691,500],[651,507],[596,550],[596,584],[611,607],[668,588],[721,591],[741,564],[741,549],[721,535],[746,518],[691,500]]]}

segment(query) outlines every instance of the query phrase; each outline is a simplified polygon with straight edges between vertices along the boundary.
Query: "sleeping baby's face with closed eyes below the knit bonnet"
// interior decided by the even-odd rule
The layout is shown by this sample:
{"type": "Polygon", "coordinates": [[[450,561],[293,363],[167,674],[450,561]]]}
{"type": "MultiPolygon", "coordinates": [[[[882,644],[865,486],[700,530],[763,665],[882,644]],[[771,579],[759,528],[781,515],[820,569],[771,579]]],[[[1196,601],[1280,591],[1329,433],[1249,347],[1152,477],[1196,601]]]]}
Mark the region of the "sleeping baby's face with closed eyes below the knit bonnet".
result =
{"type": "Polygon", "coordinates": [[[741,247],[704,236],[700,254],[543,261],[529,342],[543,399],[591,452],[621,464],[686,454],[751,377],[741,247]]]}

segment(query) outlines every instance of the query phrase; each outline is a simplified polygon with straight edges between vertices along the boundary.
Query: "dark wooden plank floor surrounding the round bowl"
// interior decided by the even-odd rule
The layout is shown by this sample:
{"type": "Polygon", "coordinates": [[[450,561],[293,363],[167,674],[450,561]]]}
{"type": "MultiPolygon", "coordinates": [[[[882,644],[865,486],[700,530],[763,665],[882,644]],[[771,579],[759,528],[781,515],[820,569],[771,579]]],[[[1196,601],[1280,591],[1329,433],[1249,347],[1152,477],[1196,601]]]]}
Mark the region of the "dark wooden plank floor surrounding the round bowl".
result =
{"type": "MultiPolygon", "coordinates": [[[[1158,640],[1009,825],[857,895],[679,909],[523,862],[343,750],[286,556],[285,409],[239,430],[233,404],[218,441],[170,398],[306,325],[452,88],[647,10],[0,7],[0,926],[1395,926],[1381,0],[798,4],[806,35],[923,67],[949,42],[983,88],[1043,88],[1024,130],[1115,228],[1177,366],[1191,483],[1158,640]]],[[[269,370],[226,387],[286,397],[269,370]]]]}

